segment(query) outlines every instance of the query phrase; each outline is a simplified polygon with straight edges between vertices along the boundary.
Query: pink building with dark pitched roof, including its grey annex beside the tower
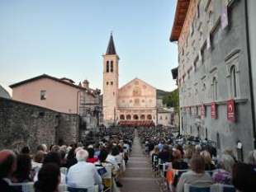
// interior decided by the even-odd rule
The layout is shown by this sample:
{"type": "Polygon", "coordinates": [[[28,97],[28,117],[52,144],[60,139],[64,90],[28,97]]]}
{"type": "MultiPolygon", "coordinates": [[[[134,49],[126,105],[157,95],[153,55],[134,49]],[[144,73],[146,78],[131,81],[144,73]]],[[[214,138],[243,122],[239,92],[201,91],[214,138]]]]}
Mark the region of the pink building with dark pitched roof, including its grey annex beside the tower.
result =
{"type": "Polygon", "coordinates": [[[75,85],[69,78],[57,78],[46,74],[33,77],[10,86],[12,99],[39,105],[61,113],[77,114],[84,129],[97,128],[102,106],[101,91],[89,87],[88,80],[75,85]]]}

